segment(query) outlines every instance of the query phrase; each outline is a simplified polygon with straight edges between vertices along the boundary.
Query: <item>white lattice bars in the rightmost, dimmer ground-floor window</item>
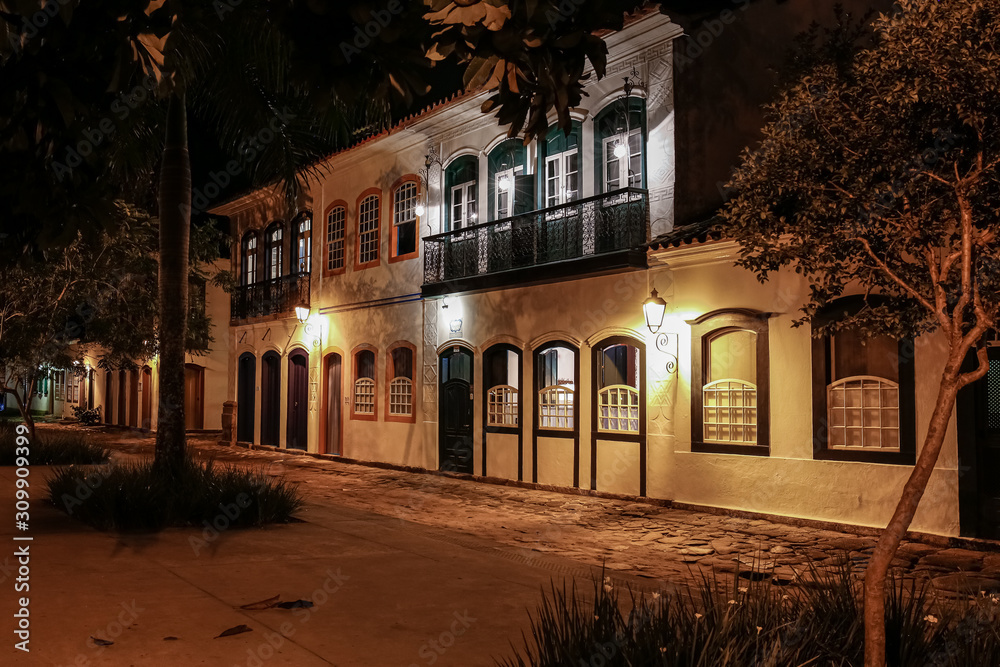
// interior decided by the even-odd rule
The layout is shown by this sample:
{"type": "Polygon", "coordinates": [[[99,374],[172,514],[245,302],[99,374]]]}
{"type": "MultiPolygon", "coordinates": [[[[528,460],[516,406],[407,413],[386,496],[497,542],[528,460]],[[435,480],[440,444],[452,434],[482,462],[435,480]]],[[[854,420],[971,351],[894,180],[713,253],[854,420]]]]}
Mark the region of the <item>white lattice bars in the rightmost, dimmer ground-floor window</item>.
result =
{"type": "Polygon", "coordinates": [[[898,452],[900,451],[900,438],[902,436],[900,432],[900,414],[899,414],[899,401],[900,401],[900,391],[899,384],[888,380],[886,378],[878,377],[875,375],[853,375],[851,377],[842,378],[836,382],[832,382],[827,385],[826,388],[826,419],[827,419],[827,442],[829,443],[830,449],[848,450],[848,451],[877,451],[877,452],[898,452]],[[849,385],[858,385],[849,386],[849,385]],[[874,386],[872,386],[874,385],[874,386]],[[859,405],[849,405],[848,400],[851,397],[850,392],[858,392],[858,397],[860,398],[859,405]],[[866,392],[869,392],[866,394],[866,392]],[[871,393],[874,392],[878,397],[878,400],[871,401],[871,393]],[[895,395],[894,402],[895,405],[884,405],[884,398],[886,395],[895,395]],[[837,397],[841,397],[843,400],[836,400],[837,397]],[[872,404],[874,403],[874,404],[872,404]],[[860,417],[860,425],[849,425],[847,414],[848,411],[857,411],[860,417]],[[887,417],[887,414],[889,415],[887,417]],[[892,416],[892,415],[895,416],[892,416]],[[866,417],[877,416],[877,425],[865,425],[866,417]],[[886,424],[886,422],[889,422],[886,424]],[[895,424],[893,424],[895,422],[895,424]],[[843,431],[843,444],[834,444],[834,431],[843,431]],[[851,439],[849,438],[850,433],[858,432],[861,433],[861,445],[849,444],[851,439]],[[895,433],[895,444],[892,444],[892,439],[890,439],[890,444],[888,446],[883,445],[885,441],[885,434],[895,433]],[[869,436],[877,435],[877,444],[868,445],[866,444],[869,436]]]}

